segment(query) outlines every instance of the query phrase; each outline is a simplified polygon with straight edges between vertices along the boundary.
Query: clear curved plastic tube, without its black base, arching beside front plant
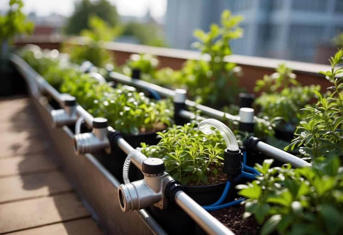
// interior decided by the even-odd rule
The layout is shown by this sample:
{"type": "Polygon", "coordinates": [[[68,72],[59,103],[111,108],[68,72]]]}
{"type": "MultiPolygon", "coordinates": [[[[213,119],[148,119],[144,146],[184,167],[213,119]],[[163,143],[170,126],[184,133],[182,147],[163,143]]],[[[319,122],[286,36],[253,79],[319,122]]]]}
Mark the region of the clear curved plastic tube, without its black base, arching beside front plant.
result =
{"type": "Polygon", "coordinates": [[[226,148],[229,150],[238,150],[238,143],[234,133],[224,123],[210,118],[201,121],[198,124],[198,131],[206,135],[212,134],[211,126],[215,127],[224,137],[226,148]]]}

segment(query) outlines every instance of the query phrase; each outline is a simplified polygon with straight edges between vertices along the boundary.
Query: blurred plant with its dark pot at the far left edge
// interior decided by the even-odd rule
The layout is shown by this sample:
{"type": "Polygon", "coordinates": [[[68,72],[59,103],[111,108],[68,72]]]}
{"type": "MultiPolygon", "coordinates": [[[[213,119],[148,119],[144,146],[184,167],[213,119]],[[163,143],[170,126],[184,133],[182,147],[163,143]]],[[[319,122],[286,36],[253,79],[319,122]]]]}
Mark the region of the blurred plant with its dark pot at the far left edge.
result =
{"type": "Polygon", "coordinates": [[[11,0],[7,13],[0,15],[0,95],[14,94],[19,88],[15,88],[19,78],[15,76],[15,69],[9,62],[8,56],[13,37],[30,34],[34,27],[32,22],[26,21],[26,16],[22,13],[23,6],[21,0],[11,0]]]}

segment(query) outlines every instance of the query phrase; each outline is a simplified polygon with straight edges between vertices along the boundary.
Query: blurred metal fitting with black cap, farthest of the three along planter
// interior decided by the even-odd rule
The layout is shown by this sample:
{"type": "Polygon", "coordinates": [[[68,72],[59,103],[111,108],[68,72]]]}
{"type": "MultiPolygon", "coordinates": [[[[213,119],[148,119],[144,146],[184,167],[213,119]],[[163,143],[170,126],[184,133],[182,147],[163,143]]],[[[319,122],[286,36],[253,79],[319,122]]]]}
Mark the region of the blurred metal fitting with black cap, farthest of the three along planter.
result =
{"type": "Polygon", "coordinates": [[[63,97],[64,109],[51,111],[52,127],[62,127],[71,125],[76,122],[78,116],[76,114],[76,99],[73,96],[63,97]]]}

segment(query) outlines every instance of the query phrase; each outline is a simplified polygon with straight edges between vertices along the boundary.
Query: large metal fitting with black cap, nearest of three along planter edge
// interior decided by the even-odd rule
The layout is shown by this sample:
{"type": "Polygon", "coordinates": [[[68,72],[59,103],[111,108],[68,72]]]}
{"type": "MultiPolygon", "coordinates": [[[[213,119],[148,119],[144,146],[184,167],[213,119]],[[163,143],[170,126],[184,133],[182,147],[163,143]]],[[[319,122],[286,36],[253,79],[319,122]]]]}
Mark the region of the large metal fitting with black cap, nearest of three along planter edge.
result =
{"type": "Polygon", "coordinates": [[[143,180],[121,184],[118,188],[120,208],[123,212],[147,208],[151,205],[165,209],[168,199],[165,188],[173,178],[164,172],[162,159],[147,158],[142,164],[143,180]]]}

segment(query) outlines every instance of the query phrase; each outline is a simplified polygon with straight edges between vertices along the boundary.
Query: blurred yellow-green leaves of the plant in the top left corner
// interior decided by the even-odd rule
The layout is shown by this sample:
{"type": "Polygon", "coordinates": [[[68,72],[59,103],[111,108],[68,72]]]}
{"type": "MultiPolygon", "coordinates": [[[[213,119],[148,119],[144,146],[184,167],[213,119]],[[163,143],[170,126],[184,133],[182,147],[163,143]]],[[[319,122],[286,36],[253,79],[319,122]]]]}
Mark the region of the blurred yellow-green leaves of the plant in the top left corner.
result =
{"type": "Polygon", "coordinates": [[[34,28],[32,22],[26,21],[22,12],[22,0],[10,0],[10,9],[5,15],[0,15],[0,42],[10,41],[17,34],[30,34],[34,28]]]}

